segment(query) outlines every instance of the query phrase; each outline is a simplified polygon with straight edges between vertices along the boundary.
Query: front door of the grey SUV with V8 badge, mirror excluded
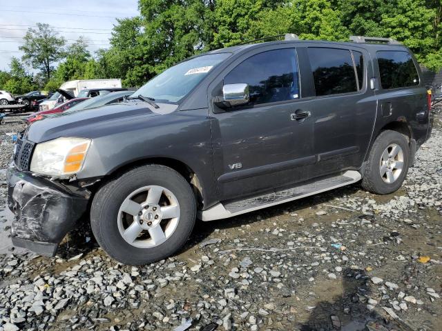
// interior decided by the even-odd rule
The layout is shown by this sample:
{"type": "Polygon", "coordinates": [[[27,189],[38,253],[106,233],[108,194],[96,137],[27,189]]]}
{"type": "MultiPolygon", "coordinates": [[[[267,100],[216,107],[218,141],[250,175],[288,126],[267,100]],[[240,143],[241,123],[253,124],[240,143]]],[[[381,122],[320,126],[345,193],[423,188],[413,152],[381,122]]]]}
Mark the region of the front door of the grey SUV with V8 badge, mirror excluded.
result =
{"type": "MultiPolygon", "coordinates": [[[[221,110],[213,106],[215,178],[220,200],[289,186],[309,177],[309,103],[302,101],[294,48],[254,50],[233,62],[214,82],[247,83],[250,102],[221,110]]],[[[218,84],[218,85],[217,85],[218,84]]]]}

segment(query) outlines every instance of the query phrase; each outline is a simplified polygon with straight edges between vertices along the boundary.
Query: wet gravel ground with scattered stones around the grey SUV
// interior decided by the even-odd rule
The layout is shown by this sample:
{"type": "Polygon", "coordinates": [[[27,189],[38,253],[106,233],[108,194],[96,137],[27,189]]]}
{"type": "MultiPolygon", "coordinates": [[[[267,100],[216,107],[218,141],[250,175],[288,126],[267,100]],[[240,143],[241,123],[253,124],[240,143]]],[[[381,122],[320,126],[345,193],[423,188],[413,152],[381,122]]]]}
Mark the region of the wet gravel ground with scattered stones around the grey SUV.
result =
{"type": "MultiPolygon", "coordinates": [[[[0,168],[21,126],[0,126],[0,168]]],[[[442,330],[440,119],[395,194],[352,185],[200,222],[179,254],[140,268],[107,257],[87,223],[53,259],[13,250],[5,180],[0,331],[442,330]]]]}

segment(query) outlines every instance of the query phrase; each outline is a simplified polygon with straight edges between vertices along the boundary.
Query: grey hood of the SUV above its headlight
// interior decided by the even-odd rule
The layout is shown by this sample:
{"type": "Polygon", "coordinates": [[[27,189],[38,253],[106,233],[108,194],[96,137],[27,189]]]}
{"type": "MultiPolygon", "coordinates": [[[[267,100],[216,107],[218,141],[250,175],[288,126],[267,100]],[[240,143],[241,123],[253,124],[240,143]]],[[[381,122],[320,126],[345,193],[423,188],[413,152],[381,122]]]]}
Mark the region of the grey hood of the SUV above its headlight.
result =
{"type": "Polygon", "coordinates": [[[155,117],[146,103],[117,103],[77,112],[61,112],[36,121],[28,128],[26,138],[41,143],[59,137],[83,137],[93,139],[115,130],[125,130],[135,121],[143,123],[148,117],[155,117]]]}

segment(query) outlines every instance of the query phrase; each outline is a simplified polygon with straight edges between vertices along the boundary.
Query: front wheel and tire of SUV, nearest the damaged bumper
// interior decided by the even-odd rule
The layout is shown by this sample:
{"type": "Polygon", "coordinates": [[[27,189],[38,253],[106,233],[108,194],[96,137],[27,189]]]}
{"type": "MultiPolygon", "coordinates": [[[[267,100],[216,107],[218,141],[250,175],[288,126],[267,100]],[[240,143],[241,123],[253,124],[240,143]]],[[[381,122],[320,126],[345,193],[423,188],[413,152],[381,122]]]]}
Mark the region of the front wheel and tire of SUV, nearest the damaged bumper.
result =
{"type": "Polygon", "coordinates": [[[195,219],[196,201],[191,186],[164,165],[133,168],[109,181],[99,188],[90,207],[95,239],[111,257],[128,265],[153,263],[180,250],[195,219]],[[158,193],[160,190],[162,193],[158,193]],[[142,211],[137,213],[140,205],[142,211]],[[173,210],[173,218],[164,217],[166,207],[173,210]],[[125,210],[131,210],[131,214],[125,210]],[[140,227],[144,227],[142,232],[136,234],[140,227]],[[129,228],[135,229],[134,234],[129,228]]]}

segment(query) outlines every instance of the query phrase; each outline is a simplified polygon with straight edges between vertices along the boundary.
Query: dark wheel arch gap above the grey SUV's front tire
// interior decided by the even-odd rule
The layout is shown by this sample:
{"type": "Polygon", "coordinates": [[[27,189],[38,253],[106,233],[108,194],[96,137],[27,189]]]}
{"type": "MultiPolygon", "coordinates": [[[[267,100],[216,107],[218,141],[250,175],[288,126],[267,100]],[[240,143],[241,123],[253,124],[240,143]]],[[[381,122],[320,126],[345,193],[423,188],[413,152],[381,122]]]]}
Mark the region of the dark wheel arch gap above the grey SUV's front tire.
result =
{"type": "Polygon", "coordinates": [[[166,167],[172,168],[173,170],[181,174],[182,177],[184,177],[184,179],[186,179],[186,181],[189,183],[189,185],[191,185],[193,193],[195,194],[195,199],[198,204],[198,209],[204,206],[204,190],[202,188],[202,184],[198,177],[198,174],[189,165],[177,159],[172,159],[169,157],[151,157],[147,159],[132,161],[113,169],[110,173],[106,174],[106,177],[104,177],[104,179],[106,180],[107,178],[117,177],[119,176],[119,174],[122,174],[130,170],[131,168],[136,168],[148,164],[164,165],[166,167]]]}

